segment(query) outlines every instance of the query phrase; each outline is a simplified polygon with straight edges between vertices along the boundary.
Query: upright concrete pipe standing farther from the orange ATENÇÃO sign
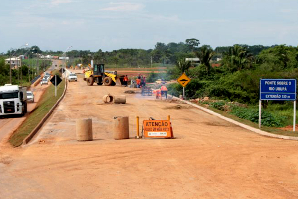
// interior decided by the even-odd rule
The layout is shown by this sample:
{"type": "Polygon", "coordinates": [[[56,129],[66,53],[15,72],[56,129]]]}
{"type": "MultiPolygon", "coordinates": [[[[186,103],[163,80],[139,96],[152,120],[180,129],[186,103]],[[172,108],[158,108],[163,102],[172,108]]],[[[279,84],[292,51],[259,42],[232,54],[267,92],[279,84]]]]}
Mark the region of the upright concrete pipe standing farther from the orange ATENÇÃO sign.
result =
{"type": "Polygon", "coordinates": [[[77,120],[77,141],[93,140],[92,119],[77,120]]]}

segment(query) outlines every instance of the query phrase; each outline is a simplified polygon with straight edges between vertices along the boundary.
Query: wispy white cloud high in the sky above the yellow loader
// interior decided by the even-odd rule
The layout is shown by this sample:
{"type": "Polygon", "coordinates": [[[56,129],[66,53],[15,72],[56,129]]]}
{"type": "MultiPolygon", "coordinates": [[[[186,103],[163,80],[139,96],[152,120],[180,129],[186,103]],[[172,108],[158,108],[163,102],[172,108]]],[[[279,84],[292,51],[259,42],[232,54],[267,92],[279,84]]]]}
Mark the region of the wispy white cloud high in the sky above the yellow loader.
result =
{"type": "Polygon", "coordinates": [[[101,11],[120,11],[120,12],[128,12],[128,11],[140,11],[145,6],[142,3],[130,3],[130,2],[120,2],[120,3],[110,3],[110,7],[105,7],[100,9],[101,11]]]}

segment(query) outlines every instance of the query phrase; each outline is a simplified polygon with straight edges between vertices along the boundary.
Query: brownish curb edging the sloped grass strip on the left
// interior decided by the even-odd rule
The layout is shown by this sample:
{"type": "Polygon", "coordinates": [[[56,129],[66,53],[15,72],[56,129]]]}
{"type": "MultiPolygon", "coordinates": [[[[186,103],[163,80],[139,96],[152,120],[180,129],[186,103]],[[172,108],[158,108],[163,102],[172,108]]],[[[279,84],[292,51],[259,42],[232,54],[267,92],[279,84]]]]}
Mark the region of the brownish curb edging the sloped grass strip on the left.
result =
{"type": "Polygon", "coordinates": [[[64,87],[64,91],[61,95],[61,97],[58,99],[58,101],[54,104],[54,106],[51,108],[51,110],[49,112],[47,112],[47,114],[43,117],[43,119],[38,123],[38,125],[29,133],[29,135],[27,137],[25,137],[25,139],[23,140],[23,144],[22,145],[26,145],[28,144],[29,141],[31,141],[31,139],[34,137],[34,135],[39,131],[39,129],[43,126],[43,124],[45,123],[45,121],[47,120],[47,118],[50,117],[50,115],[52,114],[52,112],[54,111],[54,109],[58,106],[58,104],[60,103],[60,101],[63,99],[65,92],[66,92],[66,88],[67,88],[67,81],[65,79],[65,87],[64,87]]]}

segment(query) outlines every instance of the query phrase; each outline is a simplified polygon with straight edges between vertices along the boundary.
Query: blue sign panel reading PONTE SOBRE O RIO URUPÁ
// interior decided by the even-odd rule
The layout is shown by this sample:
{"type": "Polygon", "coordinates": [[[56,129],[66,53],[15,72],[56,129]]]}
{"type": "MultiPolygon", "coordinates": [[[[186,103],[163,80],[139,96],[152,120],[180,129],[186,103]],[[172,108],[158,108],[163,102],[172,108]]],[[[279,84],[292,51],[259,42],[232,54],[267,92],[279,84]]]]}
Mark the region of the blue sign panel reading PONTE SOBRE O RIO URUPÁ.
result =
{"type": "Polygon", "coordinates": [[[261,79],[260,100],[296,100],[296,80],[261,79]]]}

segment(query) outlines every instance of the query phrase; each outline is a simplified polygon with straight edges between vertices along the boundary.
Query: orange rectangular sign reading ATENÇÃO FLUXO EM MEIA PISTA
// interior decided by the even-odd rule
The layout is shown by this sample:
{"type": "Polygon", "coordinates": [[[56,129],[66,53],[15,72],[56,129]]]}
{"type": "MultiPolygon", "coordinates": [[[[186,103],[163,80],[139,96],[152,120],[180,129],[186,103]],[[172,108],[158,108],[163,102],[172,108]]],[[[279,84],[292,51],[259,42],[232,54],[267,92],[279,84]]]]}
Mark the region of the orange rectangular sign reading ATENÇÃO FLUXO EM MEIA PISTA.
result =
{"type": "Polygon", "coordinates": [[[171,137],[169,120],[143,120],[145,137],[171,137]]]}

